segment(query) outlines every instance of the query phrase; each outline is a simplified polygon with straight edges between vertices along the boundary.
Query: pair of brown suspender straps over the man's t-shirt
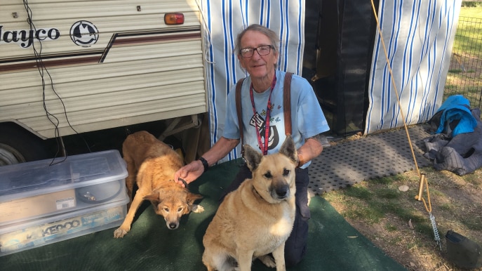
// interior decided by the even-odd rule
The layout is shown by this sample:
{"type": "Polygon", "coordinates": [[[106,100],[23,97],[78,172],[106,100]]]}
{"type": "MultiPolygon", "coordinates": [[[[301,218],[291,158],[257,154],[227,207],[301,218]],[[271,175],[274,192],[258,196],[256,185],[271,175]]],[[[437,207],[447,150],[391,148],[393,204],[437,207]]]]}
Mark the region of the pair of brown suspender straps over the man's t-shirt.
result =
{"type": "MultiPolygon", "coordinates": [[[[291,72],[286,72],[283,84],[283,114],[285,119],[285,134],[291,135],[291,72]]],[[[241,139],[241,157],[244,157],[244,138],[243,138],[243,120],[241,114],[241,86],[243,79],[239,79],[236,83],[236,112],[238,113],[239,138],[241,139]]]]}

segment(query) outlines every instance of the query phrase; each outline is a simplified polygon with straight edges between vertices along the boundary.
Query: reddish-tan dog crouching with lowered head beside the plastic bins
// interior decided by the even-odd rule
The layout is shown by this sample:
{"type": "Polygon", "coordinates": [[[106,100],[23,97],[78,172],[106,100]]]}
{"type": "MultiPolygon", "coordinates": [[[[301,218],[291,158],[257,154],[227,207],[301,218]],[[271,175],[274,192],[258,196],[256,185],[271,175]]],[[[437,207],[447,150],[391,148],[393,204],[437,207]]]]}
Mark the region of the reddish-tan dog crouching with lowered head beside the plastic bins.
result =
{"type": "Polygon", "coordinates": [[[128,135],[122,145],[123,159],[127,163],[126,187],[131,204],[121,227],[114,231],[121,238],[130,230],[142,201],[149,200],[158,215],[166,220],[168,229],[179,227],[182,215],[191,211],[200,213],[202,206],[194,204],[202,196],[192,194],[186,187],[174,182],[174,173],[183,166],[179,154],[147,131],[128,135]],[[138,190],[132,198],[134,183],[138,190]]]}

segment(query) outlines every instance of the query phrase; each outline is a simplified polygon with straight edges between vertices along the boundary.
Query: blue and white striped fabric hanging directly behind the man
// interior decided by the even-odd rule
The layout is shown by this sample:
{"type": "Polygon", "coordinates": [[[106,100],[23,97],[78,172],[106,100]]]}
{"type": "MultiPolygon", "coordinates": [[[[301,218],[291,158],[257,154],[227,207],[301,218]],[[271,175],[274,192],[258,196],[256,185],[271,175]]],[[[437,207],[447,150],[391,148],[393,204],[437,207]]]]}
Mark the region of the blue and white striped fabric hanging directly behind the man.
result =
{"type": "MultiPolygon", "coordinates": [[[[236,36],[253,23],[279,34],[278,69],[301,74],[304,41],[304,0],[200,0],[206,25],[206,74],[210,142],[222,135],[229,89],[246,74],[233,52],[236,36]]],[[[236,159],[232,152],[225,160],[236,159]]]]}

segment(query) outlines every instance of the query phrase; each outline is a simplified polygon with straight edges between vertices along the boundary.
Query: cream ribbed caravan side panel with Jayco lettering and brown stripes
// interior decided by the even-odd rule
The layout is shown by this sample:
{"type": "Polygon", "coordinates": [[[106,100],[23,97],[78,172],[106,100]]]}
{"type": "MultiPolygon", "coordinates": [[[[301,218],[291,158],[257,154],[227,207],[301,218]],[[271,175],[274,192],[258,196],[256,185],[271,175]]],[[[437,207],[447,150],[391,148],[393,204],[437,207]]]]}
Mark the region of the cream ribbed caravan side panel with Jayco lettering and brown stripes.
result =
{"type": "Polygon", "coordinates": [[[199,17],[194,0],[2,0],[0,122],[53,138],[206,112],[199,17]]]}

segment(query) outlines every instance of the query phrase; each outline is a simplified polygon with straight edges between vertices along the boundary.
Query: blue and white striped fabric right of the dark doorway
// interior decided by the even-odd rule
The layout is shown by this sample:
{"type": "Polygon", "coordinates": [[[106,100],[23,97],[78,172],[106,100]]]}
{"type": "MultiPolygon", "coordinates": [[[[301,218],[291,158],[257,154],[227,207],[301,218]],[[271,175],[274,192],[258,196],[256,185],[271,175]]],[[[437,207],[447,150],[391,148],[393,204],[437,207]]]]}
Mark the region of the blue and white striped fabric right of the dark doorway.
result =
{"type": "Polygon", "coordinates": [[[461,0],[380,0],[365,133],[428,121],[443,102],[461,0]],[[401,107],[396,99],[399,94],[401,107]]]}

